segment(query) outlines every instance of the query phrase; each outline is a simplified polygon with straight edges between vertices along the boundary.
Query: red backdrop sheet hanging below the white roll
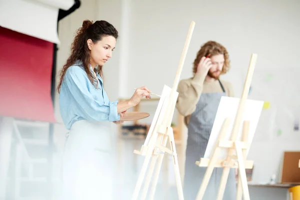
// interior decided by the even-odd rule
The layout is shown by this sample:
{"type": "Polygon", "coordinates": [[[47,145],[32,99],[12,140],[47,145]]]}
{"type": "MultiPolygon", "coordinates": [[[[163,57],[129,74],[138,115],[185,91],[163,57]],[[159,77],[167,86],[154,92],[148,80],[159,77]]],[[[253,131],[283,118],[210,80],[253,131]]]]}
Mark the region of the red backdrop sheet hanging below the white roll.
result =
{"type": "Polygon", "coordinates": [[[53,43],[0,27],[0,115],[55,122],[53,43]]]}

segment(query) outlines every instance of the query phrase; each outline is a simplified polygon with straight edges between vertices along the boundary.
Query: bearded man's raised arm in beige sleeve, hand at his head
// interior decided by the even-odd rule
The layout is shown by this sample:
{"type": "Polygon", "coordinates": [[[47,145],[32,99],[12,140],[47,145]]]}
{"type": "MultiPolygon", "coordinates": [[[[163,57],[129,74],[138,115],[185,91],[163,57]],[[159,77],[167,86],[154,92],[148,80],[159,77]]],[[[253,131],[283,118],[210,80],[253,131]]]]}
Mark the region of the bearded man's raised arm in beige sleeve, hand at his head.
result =
{"type": "Polygon", "coordinates": [[[183,116],[190,115],[200,98],[205,75],[196,73],[192,79],[181,80],[178,84],[176,108],[183,116]]]}

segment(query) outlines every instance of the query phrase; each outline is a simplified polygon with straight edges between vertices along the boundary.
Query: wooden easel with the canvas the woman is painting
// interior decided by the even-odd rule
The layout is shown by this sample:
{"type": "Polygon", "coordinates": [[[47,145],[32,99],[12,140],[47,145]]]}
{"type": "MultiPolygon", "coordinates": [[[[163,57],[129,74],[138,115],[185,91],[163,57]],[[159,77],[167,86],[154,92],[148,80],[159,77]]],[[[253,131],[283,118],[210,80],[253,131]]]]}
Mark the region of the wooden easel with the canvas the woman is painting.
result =
{"type": "Polygon", "coordinates": [[[154,175],[153,175],[153,182],[150,191],[149,199],[153,199],[155,188],[159,176],[159,171],[163,159],[164,153],[168,153],[172,155],[173,158],[173,166],[175,170],[175,178],[176,178],[176,186],[179,199],[183,199],[183,191],[182,185],[180,180],[180,173],[179,173],[179,166],[178,166],[178,159],[176,154],[173,130],[171,127],[171,121],[175,109],[176,99],[178,96],[177,86],[180,78],[180,74],[182,71],[183,63],[186,57],[187,49],[190,43],[191,35],[194,29],[195,22],[191,21],[189,30],[187,33],[187,37],[184,43],[183,51],[181,54],[181,58],[179,61],[179,66],[177,68],[175,80],[173,83],[173,87],[168,89],[166,85],[164,85],[158,106],[155,111],[155,115],[153,117],[150,129],[148,131],[147,137],[144,141],[144,144],[141,146],[140,151],[134,150],[134,153],[145,155],[143,165],[141,167],[140,174],[138,176],[136,186],[132,195],[132,200],[137,199],[138,193],[144,179],[144,175],[148,166],[148,163],[151,158],[151,163],[149,167],[148,174],[146,176],[144,187],[142,191],[142,196],[140,199],[145,199],[148,191],[148,186],[150,184],[150,180],[152,177],[152,173],[154,170],[155,163],[158,158],[157,165],[155,167],[154,175]],[[169,140],[170,149],[166,147],[167,140],[169,140]]]}

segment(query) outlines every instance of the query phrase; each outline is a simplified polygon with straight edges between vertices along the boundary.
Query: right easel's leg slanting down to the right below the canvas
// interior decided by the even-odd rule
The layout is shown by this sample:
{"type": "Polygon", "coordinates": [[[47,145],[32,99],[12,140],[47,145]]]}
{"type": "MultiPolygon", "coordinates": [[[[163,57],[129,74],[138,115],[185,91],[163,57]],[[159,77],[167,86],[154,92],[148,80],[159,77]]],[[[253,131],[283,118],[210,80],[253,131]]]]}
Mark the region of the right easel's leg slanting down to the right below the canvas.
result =
{"type": "Polygon", "coordinates": [[[242,155],[241,146],[239,142],[235,142],[235,149],[236,149],[236,155],[238,160],[238,173],[239,173],[239,179],[241,181],[243,197],[244,200],[250,200],[246,171],[244,166],[244,158],[242,155]]]}

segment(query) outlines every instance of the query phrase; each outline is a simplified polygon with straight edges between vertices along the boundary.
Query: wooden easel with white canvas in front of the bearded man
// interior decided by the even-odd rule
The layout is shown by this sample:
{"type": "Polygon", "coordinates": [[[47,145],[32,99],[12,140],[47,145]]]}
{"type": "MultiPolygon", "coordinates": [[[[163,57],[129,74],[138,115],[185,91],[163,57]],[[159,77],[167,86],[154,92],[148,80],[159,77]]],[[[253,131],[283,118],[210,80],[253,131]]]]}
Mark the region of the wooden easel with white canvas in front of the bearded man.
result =
{"type": "Polygon", "coordinates": [[[223,198],[230,168],[238,168],[236,199],[249,200],[246,168],[253,161],[246,160],[263,101],[247,99],[257,55],[252,53],[241,98],[222,96],[204,156],[196,161],[199,167],[207,167],[197,200],[202,199],[214,167],[223,167],[217,199],[223,198]]]}

